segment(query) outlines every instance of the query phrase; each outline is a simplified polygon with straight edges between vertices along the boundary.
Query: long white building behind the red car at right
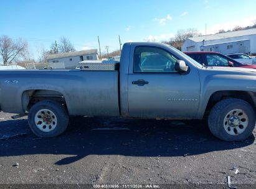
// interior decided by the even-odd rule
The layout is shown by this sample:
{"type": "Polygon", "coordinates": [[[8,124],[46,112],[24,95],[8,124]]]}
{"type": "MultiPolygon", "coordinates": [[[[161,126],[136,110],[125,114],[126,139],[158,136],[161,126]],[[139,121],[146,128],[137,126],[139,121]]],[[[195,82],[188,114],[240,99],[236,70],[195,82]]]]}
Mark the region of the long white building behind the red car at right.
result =
{"type": "Polygon", "coordinates": [[[256,29],[190,37],[181,47],[185,51],[212,51],[222,54],[256,53],[256,29]]]}

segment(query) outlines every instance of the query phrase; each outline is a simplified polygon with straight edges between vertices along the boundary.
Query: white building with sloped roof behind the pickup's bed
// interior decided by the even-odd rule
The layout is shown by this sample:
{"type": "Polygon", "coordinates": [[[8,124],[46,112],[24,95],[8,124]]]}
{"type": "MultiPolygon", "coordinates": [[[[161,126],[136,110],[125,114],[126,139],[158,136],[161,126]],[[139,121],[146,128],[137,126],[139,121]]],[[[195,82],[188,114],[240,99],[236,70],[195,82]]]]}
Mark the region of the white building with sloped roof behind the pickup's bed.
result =
{"type": "Polygon", "coordinates": [[[83,60],[98,60],[98,50],[81,50],[67,53],[57,53],[49,55],[47,58],[49,63],[60,63],[64,65],[65,69],[74,69],[78,63],[83,60]]]}

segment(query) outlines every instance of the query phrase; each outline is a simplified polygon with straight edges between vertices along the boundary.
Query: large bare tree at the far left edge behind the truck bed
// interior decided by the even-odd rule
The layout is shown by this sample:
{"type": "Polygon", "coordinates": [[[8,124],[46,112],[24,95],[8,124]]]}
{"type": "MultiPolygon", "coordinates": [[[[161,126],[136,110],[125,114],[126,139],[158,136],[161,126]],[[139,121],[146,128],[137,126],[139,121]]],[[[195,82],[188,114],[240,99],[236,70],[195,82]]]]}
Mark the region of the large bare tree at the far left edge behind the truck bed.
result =
{"type": "Polygon", "coordinates": [[[27,50],[27,42],[22,39],[11,39],[7,35],[0,37],[0,55],[4,64],[12,63],[24,57],[27,50]]]}

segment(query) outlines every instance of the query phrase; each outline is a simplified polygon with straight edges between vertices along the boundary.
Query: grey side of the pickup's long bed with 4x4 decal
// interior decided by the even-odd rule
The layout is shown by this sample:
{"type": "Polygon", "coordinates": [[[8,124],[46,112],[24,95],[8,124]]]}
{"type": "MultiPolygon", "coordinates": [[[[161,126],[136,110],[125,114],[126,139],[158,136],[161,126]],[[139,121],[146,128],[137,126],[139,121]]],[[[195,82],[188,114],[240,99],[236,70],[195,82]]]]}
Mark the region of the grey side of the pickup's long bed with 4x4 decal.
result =
{"type": "Polygon", "coordinates": [[[0,108],[9,113],[24,113],[35,94],[60,94],[71,116],[119,115],[118,70],[0,71],[0,89],[0,108]]]}

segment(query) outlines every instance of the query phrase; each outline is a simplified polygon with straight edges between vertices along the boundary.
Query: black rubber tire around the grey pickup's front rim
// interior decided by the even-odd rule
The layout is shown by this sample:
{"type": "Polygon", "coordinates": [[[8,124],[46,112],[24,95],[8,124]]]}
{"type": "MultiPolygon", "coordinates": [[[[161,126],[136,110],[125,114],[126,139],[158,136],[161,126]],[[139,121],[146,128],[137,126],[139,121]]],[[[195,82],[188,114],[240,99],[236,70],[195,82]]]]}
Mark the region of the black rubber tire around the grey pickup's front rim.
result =
{"type": "MultiPolygon", "coordinates": [[[[242,120],[242,119],[241,119],[242,120]]],[[[240,122],[240,119],[239,119],[240,122]]],[[[225,122],[227,124],[227,122],[225,122]]],[[[247,101],[242,99],[230,98],[219,101],[210,111],[208,126],[214,136],[223,141],[243,141],[247,139],[255,127],[255,111],[247,101]],[[248,117],[248,125],[240,134],[231,135],[224,128],[224,119],[230,111],[242,109],[248,117]]],[[[232,128],[232,127],[231,127],[232,128]]]]}

